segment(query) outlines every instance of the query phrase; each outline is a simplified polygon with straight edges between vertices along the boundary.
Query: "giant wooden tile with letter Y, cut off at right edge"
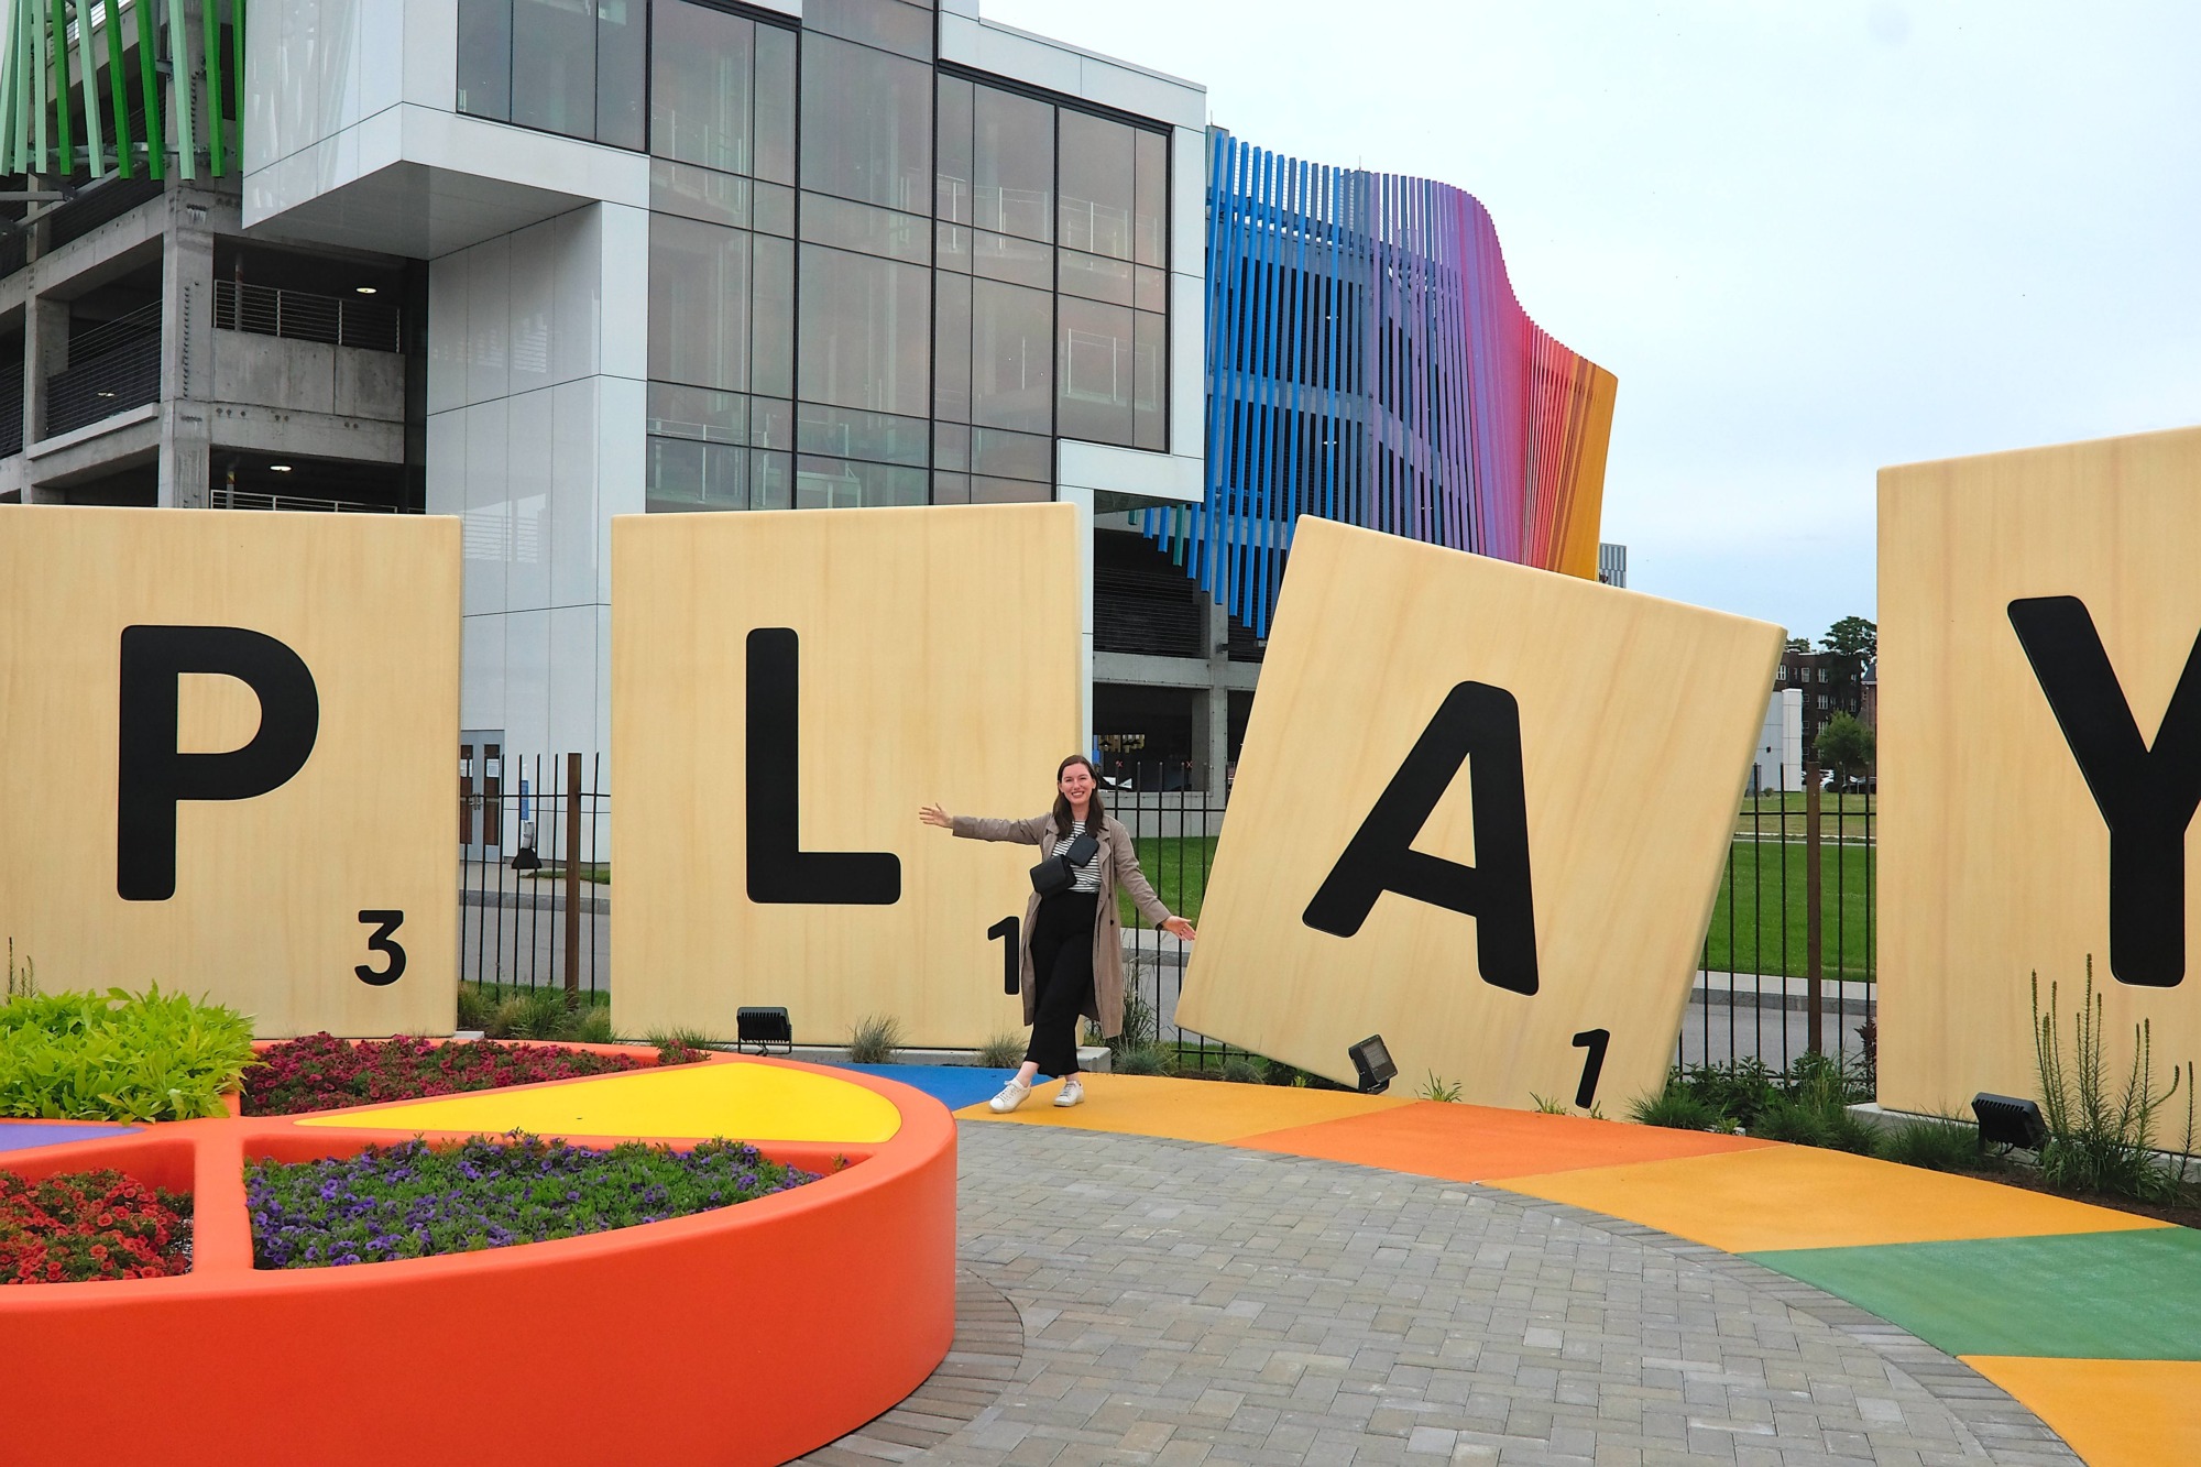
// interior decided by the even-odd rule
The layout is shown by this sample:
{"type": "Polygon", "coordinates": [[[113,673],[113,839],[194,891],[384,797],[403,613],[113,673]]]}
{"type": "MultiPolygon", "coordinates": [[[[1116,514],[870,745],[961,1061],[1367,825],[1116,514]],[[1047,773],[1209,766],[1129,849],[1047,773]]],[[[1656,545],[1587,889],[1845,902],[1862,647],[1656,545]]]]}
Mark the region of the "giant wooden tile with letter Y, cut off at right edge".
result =
{"type": "Polygon", "coordinates": [[[2089,956],[2113,1088],[2201,1062],[2197,564],[2201,430],[1880,474],[1882,1104],[2036,1095],[2089,956]]]}

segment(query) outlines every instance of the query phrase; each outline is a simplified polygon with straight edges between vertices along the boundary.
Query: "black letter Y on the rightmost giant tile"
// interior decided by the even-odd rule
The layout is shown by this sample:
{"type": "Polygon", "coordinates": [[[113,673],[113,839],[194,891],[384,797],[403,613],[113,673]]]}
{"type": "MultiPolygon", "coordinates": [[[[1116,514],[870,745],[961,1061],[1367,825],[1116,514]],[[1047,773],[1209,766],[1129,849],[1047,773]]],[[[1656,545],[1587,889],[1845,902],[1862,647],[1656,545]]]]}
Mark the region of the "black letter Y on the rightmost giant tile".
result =
{"type": "Polygon", "coordinates": [[[2201,641],[2155,731],[2139,725],[2078,597],[2025,597],[2010,626],[2109,826],[2109,971],[2175,989],[2186,978],[2186,826],[2201,806],[2201,641]]]}

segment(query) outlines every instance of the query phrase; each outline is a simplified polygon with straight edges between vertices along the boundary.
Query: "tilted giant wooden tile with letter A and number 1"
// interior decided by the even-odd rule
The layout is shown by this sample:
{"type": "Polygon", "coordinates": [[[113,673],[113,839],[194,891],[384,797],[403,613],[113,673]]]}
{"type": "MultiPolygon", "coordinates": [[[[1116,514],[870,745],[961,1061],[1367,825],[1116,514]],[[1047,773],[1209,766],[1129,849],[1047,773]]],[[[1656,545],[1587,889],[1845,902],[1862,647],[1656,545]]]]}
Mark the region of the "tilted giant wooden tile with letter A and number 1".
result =
{"type": "Polygon", "coordinates": [[[1657,1086],[1781,628],[1301,520],[1178,1022],[1351,1082],[1657,1086]]]}

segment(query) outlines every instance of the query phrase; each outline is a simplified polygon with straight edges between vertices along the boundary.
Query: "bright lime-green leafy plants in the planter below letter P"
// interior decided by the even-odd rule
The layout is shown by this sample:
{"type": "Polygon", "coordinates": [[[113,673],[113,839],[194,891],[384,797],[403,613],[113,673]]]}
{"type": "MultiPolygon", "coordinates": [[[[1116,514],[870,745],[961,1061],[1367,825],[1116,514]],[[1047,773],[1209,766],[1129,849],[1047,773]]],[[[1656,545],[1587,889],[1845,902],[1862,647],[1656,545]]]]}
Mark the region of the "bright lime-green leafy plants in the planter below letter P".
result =
{"type": "Polygon", "coordinates": [[[143,993],[24,993],[0,1004],[0,1115],[189,1121],[227,1115],[253,1062],[236,1009],[143,993]]]}

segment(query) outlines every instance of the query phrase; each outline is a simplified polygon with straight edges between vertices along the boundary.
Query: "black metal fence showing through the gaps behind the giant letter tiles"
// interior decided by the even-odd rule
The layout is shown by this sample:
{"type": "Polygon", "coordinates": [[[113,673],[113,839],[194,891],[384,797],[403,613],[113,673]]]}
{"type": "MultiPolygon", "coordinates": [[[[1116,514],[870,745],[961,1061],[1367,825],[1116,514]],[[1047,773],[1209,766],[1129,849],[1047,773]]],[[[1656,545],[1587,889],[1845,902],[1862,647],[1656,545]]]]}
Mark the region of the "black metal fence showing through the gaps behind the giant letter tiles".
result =
{"type": "MultiPolygon", "coordinates": [[[[1226,795],[1184,789],[1182,769],[1120,767],[1103,791],[1162,903],[1200,921],[1226,795]]],[[[1827,1053],[1873,1068],[1875,795],[1774,789],[1743,802],[1675,1064],[1756,1060],[1774,1071],[1827,1053]],[[1816,892],[1816,899],[1814,899],[1816,892]]],[[[460,773],[460,978],[610,989],[610,813],[601,758],[506,758],[460,773]],[[574,859],[566,859],[574,852],[574,859]]],[[[1255,1057],[1178,1024],[1189,945],[1125,919],[1125,982],[1140,1040],[1184,1068],[1255,1057]]]]}

